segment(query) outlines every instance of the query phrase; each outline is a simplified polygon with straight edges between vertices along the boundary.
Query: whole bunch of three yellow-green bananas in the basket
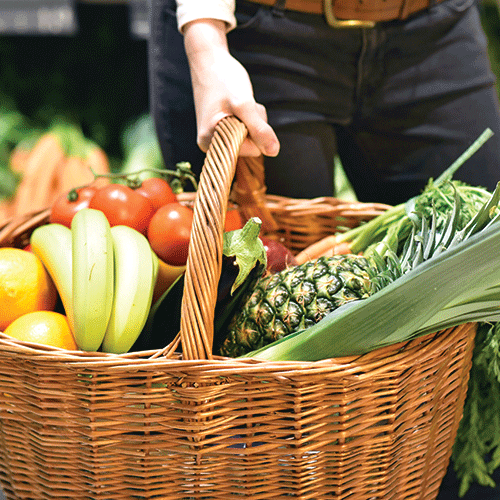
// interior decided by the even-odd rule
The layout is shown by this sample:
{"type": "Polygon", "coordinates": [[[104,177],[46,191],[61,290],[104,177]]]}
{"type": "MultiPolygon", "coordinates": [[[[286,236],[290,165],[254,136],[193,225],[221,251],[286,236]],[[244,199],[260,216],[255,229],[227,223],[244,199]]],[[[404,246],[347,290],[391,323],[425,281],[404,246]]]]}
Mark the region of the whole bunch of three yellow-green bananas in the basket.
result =
{"type": "Polygon", "coordinates": [[[30,239],[61,297],[78,347],[128,352],[146,323],[158,274],[147,238],[110,227],[103,212],[78,211],[71,229],[36,228],[30,239]]]}

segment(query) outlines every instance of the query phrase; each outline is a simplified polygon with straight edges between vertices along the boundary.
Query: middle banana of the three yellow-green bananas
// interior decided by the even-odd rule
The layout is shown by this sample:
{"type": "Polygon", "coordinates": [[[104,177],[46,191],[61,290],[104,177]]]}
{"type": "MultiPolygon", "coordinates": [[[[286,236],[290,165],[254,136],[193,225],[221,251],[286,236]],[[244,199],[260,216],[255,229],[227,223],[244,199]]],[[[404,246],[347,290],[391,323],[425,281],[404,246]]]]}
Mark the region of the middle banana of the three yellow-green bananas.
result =
{"type": "Polygon", "coordinates": [[[71,222],[73,323],[78,347],[97,351],[108,326],[114,293],[113,241],[106,216],[84,208],[71,222]]]}

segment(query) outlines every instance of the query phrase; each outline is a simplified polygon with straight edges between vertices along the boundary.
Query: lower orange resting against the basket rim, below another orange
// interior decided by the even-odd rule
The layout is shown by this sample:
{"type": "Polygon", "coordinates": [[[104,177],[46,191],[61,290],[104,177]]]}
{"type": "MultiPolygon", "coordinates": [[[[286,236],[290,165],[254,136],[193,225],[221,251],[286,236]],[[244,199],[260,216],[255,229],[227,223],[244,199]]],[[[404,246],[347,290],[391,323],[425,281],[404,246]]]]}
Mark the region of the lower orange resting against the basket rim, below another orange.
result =
{"type": "Polygon", "coordinates": [[[35,342],[63,349],[78,349],[68,320],[55,311],[34,311],[15,319],[4,332],[23,342],[35,342]]]}

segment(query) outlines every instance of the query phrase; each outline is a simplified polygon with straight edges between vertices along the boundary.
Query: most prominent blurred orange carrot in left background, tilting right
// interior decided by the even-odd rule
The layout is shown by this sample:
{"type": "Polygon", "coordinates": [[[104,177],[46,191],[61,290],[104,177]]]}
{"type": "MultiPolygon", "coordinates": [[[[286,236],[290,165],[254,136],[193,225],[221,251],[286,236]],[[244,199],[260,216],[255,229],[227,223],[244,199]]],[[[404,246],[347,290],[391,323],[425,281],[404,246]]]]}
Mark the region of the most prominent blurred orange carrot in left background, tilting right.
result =
{"type": "Polygon", "coordinates": [[[41,210],[50,204],[55,174],[63,159],[64,150],[56,135],[48,132],[37,141],[16,191],[15,215],[41,210]]]}

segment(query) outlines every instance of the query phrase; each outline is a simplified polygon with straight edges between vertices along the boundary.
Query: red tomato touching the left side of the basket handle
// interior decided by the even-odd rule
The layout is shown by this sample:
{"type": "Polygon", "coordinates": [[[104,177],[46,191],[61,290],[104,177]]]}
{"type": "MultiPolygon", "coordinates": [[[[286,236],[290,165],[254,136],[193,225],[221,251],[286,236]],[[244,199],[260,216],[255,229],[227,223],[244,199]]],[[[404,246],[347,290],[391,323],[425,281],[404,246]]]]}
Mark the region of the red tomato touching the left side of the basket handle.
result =
{"type": "Polygon", "coordinates": [[[168,203],[153,215],[148,227],[151,248],[171,266],[184,266],[187,261],[193,210],[180,203],[168,203]]]}

